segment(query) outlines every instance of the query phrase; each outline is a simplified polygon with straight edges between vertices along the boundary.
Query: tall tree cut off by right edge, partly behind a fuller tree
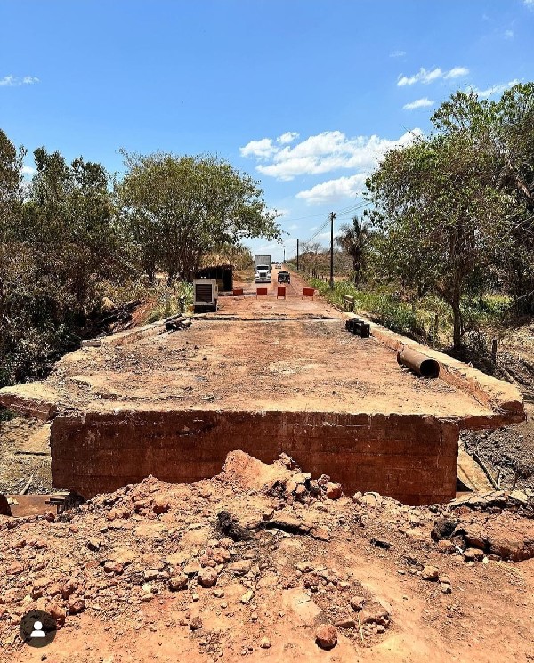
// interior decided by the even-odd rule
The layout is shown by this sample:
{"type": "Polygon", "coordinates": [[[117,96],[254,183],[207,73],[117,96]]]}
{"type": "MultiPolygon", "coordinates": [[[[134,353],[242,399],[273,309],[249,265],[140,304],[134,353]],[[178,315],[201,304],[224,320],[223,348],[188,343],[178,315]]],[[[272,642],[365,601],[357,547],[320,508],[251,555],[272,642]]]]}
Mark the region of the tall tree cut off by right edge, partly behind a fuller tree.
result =
{"type": "Polygon", "coordinates": [[[517,312],[534,312],[534,84],[514,85],[499,101],[456,93],[433,124],[441,133],[470,137],[479,179],[507,199],[503,216],[488,229],[488,250],[517,312]]]}

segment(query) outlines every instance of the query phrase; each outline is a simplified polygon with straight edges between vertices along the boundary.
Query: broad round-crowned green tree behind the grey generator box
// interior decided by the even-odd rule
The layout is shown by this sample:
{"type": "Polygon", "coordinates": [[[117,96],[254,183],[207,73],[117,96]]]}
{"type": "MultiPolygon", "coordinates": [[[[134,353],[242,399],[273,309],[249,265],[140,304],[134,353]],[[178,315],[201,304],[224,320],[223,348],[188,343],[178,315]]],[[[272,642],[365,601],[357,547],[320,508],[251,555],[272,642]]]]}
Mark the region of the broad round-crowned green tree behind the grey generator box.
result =
{"type": "Polygon", "coordinates": [[[279,239],[257,183],[223,159],[122,154],[128,170],[117,197],[149,279],[159,265],[169,280],[190,280],[202,256],[219,247],[279,239]]]}

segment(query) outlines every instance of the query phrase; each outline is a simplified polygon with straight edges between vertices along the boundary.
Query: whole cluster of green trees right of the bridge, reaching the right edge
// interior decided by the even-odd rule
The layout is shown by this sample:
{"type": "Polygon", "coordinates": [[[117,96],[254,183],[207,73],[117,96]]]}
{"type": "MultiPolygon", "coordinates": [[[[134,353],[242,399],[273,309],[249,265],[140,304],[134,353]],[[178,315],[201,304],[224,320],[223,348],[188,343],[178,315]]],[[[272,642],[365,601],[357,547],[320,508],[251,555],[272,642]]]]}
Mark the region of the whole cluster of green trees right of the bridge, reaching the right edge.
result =
{"type": "Polygon", "coordinates": [[[391,150],[367,182],[378,273],[449,303],[456,351],[465,297],[499,278],[516,301],[534,295],[533,108],[532,84],[498,102],[456,93],[437,133],[391,150]]]}

